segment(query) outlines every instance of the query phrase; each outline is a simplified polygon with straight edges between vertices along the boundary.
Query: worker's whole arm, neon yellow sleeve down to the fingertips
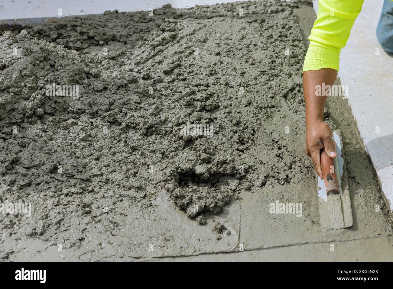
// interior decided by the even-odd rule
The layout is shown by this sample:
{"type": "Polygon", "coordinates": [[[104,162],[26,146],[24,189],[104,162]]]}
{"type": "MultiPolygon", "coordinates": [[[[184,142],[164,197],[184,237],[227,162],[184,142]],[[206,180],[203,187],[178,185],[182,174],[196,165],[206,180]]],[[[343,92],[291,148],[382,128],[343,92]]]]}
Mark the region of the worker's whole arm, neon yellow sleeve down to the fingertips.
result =
{"type": "MultiPolygon", "coordinates": [[[[340,49],[362,7],[363,0],[319,0],[318,16],[310,33],[310,45],[303,66],[303,92],[306,106],[306,153],[312,159],[318,176],[322,150],[336,157],[332,131],[323,121],[323,109],[339,69],[340,49]],[[320,93],[316,93],[319,88],[320,93]]],[[[325,163],[326,165],[326,163],[325,163]]]]}

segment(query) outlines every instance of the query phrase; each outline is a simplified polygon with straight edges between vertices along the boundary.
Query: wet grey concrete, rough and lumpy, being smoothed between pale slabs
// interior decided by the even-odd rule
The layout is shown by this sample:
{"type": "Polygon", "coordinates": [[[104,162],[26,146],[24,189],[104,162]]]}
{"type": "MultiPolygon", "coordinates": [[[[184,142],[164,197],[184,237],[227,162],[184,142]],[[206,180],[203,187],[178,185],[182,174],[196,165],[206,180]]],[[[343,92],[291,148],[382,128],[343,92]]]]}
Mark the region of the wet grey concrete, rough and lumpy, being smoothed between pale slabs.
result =
{"type": "Polygon", "coordinates": [[[31,216],[2,214],[0,258],[393,256],[389,211],[340,97],[325,120],[343,135],[354,225],[320,228],[301,86],[310,3],[165,5],[5,31],[0,201],[31,204],[31,216]],[[78,94],[50,95],[53,83],[78,94]],[[276,201],[301,203],[301,216],[271,214],[276,201]]]}

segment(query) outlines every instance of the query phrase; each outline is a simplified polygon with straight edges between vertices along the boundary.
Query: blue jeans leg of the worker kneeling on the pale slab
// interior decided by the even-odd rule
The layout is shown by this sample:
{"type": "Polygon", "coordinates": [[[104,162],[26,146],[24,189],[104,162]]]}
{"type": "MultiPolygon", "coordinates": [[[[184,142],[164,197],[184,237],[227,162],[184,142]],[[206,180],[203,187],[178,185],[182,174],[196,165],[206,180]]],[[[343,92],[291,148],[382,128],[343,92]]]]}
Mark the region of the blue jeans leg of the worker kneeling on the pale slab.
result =
{"type": "Polygon", "coordinates": [[[381,16],[376,27],[376,38],[387,53],[393,53],[393,1],[384,0],[381,16]]]}

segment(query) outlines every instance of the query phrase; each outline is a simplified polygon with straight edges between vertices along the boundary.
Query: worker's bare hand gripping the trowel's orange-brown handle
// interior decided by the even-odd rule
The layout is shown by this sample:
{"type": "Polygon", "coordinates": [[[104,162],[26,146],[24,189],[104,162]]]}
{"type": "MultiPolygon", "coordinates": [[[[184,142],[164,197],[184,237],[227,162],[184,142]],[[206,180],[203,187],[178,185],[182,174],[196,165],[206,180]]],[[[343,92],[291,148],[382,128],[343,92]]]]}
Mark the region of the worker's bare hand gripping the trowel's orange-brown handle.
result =
{"type": "Polygon", "coordinates": [[[306,154],[311,157],[312,165],[321,179],[323,179],[323,176],[320,153],[323,149],[331,158],[336,157],[336,143],[332,139],[332,130],[324,121],[308,124],[306,129],[306,154]]]}

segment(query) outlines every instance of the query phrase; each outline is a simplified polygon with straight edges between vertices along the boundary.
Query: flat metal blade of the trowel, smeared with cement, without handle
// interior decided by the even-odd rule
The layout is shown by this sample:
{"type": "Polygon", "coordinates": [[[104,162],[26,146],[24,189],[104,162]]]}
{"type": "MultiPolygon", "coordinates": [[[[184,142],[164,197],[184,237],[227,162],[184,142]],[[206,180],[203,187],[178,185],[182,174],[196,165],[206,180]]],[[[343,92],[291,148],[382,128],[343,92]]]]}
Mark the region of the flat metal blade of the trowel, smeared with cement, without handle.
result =
{"type": "MultiPolygon", "coordinates": [[[[339,131],[337,132],[340,133],[339,131]]],[[[347,169],[345,167],[342,152],[342,142],[337,132],[333,132],[333,140],[336,142],[337,152],[337,156],[334,158],[333,163],[340,193],[327,196],[325,182],[317,176],[321,227],[332,229],[348,228],[353,225],[347,169]]]]}

